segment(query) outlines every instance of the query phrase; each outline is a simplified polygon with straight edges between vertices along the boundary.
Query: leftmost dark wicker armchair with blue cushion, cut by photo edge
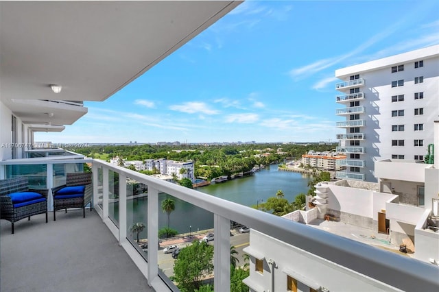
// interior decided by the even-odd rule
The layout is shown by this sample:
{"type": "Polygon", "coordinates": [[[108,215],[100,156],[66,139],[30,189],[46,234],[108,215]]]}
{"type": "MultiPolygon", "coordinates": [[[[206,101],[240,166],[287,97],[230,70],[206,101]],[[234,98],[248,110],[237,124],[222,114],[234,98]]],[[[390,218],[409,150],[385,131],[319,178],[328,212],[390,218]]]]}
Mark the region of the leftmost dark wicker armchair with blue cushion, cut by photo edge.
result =
{"type": "Polygon", "coordinates": [[[32,215],[46,213],[47,223],[48,190],[29,189],[26,177],[0,180],[0,219],[14,223],[25,217],[30,220],[32,215]]]}

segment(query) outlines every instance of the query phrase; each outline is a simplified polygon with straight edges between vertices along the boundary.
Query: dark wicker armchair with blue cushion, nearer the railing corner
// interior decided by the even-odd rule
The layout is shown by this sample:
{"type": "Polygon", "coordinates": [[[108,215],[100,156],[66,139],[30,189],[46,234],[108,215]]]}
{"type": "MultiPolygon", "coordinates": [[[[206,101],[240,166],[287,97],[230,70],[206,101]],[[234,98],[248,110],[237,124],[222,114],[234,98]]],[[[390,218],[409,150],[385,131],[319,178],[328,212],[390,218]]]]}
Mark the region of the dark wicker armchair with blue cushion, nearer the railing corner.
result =
{"type": "Polygon", "coordinates": [[[69,208],[82,208],[85,218],[85,207],[91,203],[93,197],[91,175],[91,173],[67,173],[66,184],[52,188],[54,221],[56,221],[57,210],[64,209],[67,213],[69,208]]]}

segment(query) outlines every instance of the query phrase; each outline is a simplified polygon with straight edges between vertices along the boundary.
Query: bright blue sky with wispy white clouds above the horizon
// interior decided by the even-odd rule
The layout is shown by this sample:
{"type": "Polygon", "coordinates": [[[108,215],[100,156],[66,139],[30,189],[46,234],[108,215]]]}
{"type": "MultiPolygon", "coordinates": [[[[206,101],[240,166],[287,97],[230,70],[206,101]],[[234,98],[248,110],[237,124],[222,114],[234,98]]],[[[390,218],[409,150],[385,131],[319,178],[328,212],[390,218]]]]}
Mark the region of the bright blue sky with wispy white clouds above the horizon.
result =
{"type": "Polygon", "coordinates": [[[336,141],[335,70],[439,44],[438,11],[436,0],[246,1],[35,141],[336,141]]]}

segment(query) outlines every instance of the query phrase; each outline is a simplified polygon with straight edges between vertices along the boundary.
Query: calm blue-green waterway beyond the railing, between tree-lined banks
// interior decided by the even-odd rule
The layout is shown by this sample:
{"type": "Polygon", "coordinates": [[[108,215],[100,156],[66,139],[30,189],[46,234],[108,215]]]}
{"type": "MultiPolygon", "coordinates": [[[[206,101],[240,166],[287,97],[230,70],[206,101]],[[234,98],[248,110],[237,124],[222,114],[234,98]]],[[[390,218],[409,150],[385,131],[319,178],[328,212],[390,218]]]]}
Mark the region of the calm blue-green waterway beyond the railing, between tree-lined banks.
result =
{"type": "MultiPolygon", "coordinates": [[[[202,186],[196,188],[197,191],[214,195],[228,201],[242,204],[245,206],[257,205],[261,200],[266,202],[268,197],[274,197],[278,190],[282,190],[285,199],[290,202],[294,200],[299,193],[307,193],[309,176],[301,173],[294,173],[288,171],[278,171],[277,165],[266,167],[254,175],[237,178],[228,182],[219,184],[211,184],[209,186],[202,186]]],[[[171,197],[167,194],[159,195],[158,204],[161,206],[163,200],[171,197]]],[[[175,201],[175,210],[171,212],[169,217],[169,227],[177,230],[179,233],[185,233],[197,230],[204,230],[213,228],[213,214],[201,208],[195,207],[192,204],[183,202],[179,199],[171,197],[175,201]],[[191,226],[191,228],[189,227],[191,226]]],[[[147,197],[140,199],[128,200],[128,224],[135,222],[143,222],[146,225],[146,209],[147,197]]],[[[115,207],[114,214],[117,216],[117,207],[115,207]]],[[[161,207],[159,207],[161,210],[161,207]]],[[[111,212],[110,212],[111,213],[111,212]]],[[[167,214],[159,212],[158,214],[158,228],[167,226],[167,214]]],[[[145,231],[141,233],[141,238],[146,238],[145,231]]]]}

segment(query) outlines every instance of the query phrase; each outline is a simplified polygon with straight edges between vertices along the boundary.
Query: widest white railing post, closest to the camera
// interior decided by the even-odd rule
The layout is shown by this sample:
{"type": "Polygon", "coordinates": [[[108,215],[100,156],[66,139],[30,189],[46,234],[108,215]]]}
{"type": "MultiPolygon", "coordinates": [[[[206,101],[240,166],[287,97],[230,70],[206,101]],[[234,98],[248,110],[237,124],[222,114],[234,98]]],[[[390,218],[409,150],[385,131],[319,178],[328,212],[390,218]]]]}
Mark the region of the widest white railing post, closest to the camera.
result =
{"type": "Polygon", "coordinates": [[[213,215],[213,228],[215,232],[215,249],[213,263],[215,264],[214,287],[220,287],[221,291],[230,291],[230,220],[213,215]]]}

